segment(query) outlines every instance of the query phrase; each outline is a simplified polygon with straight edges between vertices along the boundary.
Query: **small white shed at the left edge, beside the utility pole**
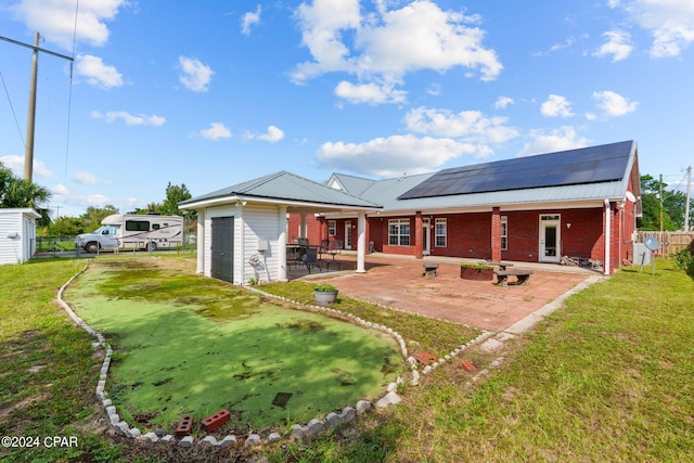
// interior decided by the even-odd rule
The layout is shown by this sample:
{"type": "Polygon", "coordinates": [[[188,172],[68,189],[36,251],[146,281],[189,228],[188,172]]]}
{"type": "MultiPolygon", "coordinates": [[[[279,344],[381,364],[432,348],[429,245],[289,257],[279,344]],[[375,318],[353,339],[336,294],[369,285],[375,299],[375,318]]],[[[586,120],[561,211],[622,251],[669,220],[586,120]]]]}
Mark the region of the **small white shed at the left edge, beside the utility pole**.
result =
{"type": "Polygon", "coordinates": [[[36,253],[36,220],[31,208],[0,208],[0,265],[24,263],[36,253]]]}

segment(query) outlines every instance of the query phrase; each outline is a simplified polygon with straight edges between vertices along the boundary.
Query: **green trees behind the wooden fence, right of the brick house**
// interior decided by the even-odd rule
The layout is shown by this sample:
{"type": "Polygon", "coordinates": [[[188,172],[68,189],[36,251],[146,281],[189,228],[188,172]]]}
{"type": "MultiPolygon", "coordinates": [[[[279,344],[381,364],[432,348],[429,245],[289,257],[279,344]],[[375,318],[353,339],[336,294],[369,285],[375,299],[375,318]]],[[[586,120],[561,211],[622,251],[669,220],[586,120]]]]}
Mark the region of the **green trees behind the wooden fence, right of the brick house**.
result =
{"type": "Polygon", "coordinates": [[[684,227],[686,195],[681,191],[667,190],[668,184],[645,175],[641,176],[641,206],[643,217],[640,230],[660,230],[660,209],[663,209],[663,230],[676,231],[684,227]],[[660,207],[663,192],[663,207],[660,207]]]}

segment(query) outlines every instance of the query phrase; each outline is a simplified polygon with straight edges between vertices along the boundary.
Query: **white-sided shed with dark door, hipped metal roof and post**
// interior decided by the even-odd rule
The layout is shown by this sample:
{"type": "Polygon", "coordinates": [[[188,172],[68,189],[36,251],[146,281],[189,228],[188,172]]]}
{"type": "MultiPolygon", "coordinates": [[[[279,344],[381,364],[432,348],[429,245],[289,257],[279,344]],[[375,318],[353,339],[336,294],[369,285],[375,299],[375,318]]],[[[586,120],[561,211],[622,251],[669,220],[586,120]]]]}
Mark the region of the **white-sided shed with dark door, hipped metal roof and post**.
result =
{"type": "Polygon", "coordinates": [[[381,206],[280,171],[179,204],[197,211],[197,272],[234,284],[286,280],[287,214],[359,217],[357,272],[364,271],[365,213],[381,206]]]}

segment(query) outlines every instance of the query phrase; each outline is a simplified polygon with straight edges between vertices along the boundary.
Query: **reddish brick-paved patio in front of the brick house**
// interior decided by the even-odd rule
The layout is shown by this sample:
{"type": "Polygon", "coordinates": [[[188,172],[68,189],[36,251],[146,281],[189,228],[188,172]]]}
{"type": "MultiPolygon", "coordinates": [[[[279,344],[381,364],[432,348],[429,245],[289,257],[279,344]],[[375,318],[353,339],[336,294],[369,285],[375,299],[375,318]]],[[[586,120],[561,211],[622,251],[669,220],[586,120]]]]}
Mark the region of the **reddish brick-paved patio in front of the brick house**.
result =
{"type": "Polygon", "coordinates": [[[337,256],[339,271],[294,268],[290,280],[330,282],[340,294],[399,310],[450,320],[468,326],[500,332],[556,299],[595,271],[579,267],[515,262],[514,268],[532,270],[528,285],[499,287],[489,281],[460,278],[460,258],[426,257],[439,263],[438,276],[423,276],[422,260],[411,257],[370,254],[367,273],[355,273],[356,256],[337,256]]]}

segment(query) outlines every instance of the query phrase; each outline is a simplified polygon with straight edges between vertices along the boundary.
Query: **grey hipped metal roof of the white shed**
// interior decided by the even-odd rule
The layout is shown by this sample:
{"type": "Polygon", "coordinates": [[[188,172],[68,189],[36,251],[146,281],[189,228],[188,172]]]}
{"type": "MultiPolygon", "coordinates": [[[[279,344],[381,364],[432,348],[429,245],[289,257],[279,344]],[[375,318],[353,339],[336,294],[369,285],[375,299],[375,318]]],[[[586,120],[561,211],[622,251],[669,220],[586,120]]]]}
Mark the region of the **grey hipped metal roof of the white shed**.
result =
{"type": "Polygon", "coordinates": [[[185,206],[223,198],[256,198],[270,200],[278,203],[291,202],[307,205],[321,204],[357,208],[381,208],[377,203],[372,203],[348,192],[332,189],[284,170],[196,196],[179,205],[185,208],[185,206]]]}

